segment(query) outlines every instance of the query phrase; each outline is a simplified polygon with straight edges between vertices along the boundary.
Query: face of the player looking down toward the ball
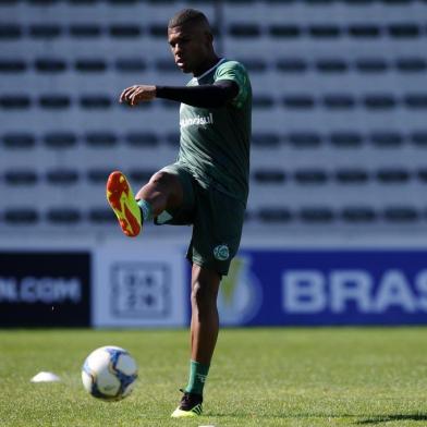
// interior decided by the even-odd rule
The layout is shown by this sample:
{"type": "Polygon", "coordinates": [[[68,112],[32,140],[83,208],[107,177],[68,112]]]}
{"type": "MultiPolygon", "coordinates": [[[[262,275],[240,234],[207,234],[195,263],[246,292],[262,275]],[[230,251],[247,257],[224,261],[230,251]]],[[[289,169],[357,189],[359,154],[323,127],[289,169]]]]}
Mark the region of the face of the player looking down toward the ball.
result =
{"type": "Polygon", "coordinates": [[[202,27],[168,28],[168,41],[178,68],[198,75],[210,54],[211,36],[202,27]]]}

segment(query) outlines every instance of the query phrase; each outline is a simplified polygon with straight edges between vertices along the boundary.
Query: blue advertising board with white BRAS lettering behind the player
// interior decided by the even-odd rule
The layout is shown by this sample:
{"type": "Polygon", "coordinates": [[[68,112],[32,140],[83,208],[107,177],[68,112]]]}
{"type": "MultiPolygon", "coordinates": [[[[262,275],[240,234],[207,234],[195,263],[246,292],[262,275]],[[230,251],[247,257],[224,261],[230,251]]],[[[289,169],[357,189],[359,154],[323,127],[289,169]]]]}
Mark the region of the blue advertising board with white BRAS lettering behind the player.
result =
{"type": "Polygon", "coordinates": [[[426,249],[243,249],[219,294],[223,325],[427,322],[426,249]]]}

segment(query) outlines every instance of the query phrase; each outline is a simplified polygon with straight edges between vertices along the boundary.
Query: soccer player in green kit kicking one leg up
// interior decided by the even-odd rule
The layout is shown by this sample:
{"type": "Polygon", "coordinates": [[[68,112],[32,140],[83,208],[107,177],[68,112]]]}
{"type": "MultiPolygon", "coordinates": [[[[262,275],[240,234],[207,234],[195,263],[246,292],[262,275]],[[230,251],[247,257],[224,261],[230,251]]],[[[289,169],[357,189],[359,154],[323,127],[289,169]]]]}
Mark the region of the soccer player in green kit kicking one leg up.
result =
{"type": "Polygon", "coordinates": [[[188,382],[172,417],[202,414],[203,390],[217,343],[217,295],[236,254],[248,194],[252,88],[244,66],[219,58],[206,16],[185,9],[168,25],[175,64],[193,78],[186,86],[135,85],[120,102],[136,106],[166,98],[181,102],[175,163],[155,173],[134,197],[119,171],[107,198],[122,231],[141,233],[144,222],[193,224],[191,362],[188,382]]]}

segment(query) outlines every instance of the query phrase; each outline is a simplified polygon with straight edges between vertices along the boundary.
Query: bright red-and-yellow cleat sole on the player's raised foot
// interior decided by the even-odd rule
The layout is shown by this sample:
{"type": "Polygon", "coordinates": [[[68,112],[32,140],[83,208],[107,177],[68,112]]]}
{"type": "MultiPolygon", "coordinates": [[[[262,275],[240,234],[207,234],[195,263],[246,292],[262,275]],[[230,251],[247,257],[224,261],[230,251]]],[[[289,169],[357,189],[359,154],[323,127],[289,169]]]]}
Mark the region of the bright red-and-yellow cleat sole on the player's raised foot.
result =
{"type": "Polygon", "coordinates": [[[114,171],[108,178],[107,200],[118,217],[123,233],[129,237],[137,236],[143,228],[141,209],[122,172],[114,171]]]}

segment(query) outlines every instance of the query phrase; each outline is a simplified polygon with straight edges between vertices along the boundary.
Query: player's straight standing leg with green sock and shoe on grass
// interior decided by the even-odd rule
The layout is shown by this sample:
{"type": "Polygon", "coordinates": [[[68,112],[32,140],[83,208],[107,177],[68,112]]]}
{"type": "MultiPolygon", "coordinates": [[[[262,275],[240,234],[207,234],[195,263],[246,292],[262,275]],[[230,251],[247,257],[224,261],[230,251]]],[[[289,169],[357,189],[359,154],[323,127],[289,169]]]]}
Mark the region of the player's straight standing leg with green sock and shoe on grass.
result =
{"type": "Polygon", "coordinates": [[[193,264],[192,324],[188,383],[173,418],[202,415],[203,390],[217,343],[219,319],[217,296],[221,277],[211,269],[193,264]]]}

